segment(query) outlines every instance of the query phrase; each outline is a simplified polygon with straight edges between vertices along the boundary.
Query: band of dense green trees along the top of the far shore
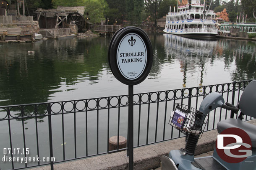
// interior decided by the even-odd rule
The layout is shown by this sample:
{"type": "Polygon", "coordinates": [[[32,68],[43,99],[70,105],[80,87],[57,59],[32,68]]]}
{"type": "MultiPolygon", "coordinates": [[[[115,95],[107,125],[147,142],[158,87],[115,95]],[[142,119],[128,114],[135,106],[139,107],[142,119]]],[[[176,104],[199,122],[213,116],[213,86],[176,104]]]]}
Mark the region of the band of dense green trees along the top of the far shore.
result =
{"type": "MultiPolygon", "coordinates": [[[[205,0],[207,2],[207,0],[205,0]]],[[[211,2],[211,0],[209,0],[211,2]]],[[[204,0],[201,0],[204,3],[204,0]]],[[[152,23],[157,26],[157,19],[169,12],[177,11],[177,0],[26,0],[32,13],[37,8],[50,9],[57,6],[85,6],[85,18],[91,23],[105,22],[106,24],[138,24],[152,23]],[[88,15],[87,15],[88,14],[88,15]]],[[[226,8],[229,20],[236,22],[240,16],[240,22],[255,22],[256,0],[213,0],[210,10],[215,13],[222,12],[226,8]],[[221,3],[220,3],[221,2],[221,3]]],[[[26,12],[28,14],[28,12],[26,12]]]]}

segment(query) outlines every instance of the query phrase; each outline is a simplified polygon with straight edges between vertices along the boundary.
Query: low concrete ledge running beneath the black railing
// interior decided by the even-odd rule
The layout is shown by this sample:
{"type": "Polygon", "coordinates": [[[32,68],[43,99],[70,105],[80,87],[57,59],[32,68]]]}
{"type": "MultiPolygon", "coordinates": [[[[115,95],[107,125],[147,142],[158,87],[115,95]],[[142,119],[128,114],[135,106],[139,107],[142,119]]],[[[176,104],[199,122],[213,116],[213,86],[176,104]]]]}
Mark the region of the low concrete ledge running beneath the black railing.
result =
{"type": "MultiPolygon", "coordinates": [[[[256,119],[248,121],[256,125],[256,119]]],[[[204,132],[199,139],[195,155],[198,157],[212,155],[217,129],[204,132]],[[202,154],[202,155],[200,155],[202,154]]],[[[170,150],[179,150],[185,146],[185,138],[160,142],[154,145],[137,147],[134,149],[134,170],[160,170],[161,155],[168,155],[170,150]]],[[[65,162],[54,165],[54,170],[128,170],[126,151],[116,152],[98,157],[90,157],[82,160],[65,162]]],[[[33,170],[50,170],[50,166],[37,167],[33,170]]]]}

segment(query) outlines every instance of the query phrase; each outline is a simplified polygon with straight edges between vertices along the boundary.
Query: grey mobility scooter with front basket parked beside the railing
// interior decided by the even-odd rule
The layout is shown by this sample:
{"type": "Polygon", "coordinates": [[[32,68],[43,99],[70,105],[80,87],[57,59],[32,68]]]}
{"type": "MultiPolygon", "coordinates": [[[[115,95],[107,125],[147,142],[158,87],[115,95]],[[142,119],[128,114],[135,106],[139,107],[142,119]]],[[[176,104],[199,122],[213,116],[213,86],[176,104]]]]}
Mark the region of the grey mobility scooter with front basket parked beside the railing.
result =
{"type": "MultiPolygon", "coordinates": [[[[170,118],[169,124],[186,134],[185,148],[170,151],[168,157],[162,156],[162,170],[256,170],[256,126],[244,122],[242,120],[244,115],[256,117],[256,81],[251,81],[246,86],[237,106],[233,106],[230,103],[224,104],[222,95],[216,92],[204,98],[199,110],[183,104],[176,104],[175,112],[170,118]],[[231,118],[218,122],[217,131],[222,133],[225,129],[239,128],[248,134],[251,139],[251,145],[241,142],[242,139],[239,142],[239,139],[236,138],[235,144],[225,145],[226,148],[230,147],[230,149],[223,149],[225,154],[229,155],[232,147],[239,148],[241,145],[247,148],[250,147],[249,150],[240,149],[239,152],[241,153],[238,155],[232,155],[231,153],[232,157],[234,157],[233,160],[245,157],[241,162],[232,163],[231,161],[230,163],[227,160],[223,160],[225,157],[220,157],[217,152],[219,148],[216,148],[216,146],[219,144],[215,145],[213,156],[194,158],[196,145],[200,135],[204,132],[208,114],[217,107],[231,110],[236,114],[240,109],[240,115],[237,119],[231,118]],[[248,155],[244,156],[246,153],[248,155]]],[[[224,142],[222,143],[223,145],[224,142]]]]}

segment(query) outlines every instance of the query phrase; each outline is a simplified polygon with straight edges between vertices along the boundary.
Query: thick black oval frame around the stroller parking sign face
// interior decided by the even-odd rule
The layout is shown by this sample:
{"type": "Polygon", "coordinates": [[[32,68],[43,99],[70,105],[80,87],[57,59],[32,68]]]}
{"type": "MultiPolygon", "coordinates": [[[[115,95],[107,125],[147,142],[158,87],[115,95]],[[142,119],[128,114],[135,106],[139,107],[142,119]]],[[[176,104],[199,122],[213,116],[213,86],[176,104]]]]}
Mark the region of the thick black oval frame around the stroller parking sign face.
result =
{"type": "Polygon", "coordinates": [[[109,45],[109,51],[108,51],[108,61],[110,64],[110,69],[112,71],[112,73],[114,74],[115,78],[118,79],[120,82],[122,82],[123,84],[126,85],[136,85],[136,84],[140,84],[142,81],[144,81],[146,79],[146,77],[148,76],[151,67],[152,67],[152,63],[153,63],[153,50],[152,50],[152,45],[151,45],[151,41],[149,39],[149,37],[147,36],[147,34],[145,33],[144,30],[142,30],[141,28],[138,27],[124,27],[119,29],[114,36],[112,37],[111,41],[110,41],[110,45],[109,45]],[[144,41],[144,44],[146,46],[146,51],[147,51],[147,59],[146,59],[146,66],[144,71],[142,72],[142,74],[133,80],[129,80],[127,78],[125,78],[119,68],[118,68],[118,61],[116,58],[117,55],[117,51],[118,51],[118,45],[120,43],[120,41],[122,40],[122,38],[124,36],[126,36],[127,34],[130,33],[136,33],[138,34],[138,36],[140,36],[142,38],[142,41],[144,41]]]}

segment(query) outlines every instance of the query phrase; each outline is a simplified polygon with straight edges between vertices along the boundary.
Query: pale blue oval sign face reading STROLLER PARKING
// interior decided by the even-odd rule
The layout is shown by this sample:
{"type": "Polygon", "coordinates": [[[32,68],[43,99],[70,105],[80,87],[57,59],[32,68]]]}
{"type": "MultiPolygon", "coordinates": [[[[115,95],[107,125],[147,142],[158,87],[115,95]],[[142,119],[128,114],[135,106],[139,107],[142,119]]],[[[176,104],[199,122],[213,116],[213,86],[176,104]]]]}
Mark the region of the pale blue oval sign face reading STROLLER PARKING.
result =
{"type": "Polygon", "coordinates": [[[137,79],[146,67],[146,45],[138,34],[129,33],[118,44],[116,57],[121,74],[129,80],[137,79]]]}

